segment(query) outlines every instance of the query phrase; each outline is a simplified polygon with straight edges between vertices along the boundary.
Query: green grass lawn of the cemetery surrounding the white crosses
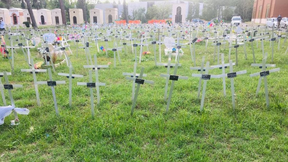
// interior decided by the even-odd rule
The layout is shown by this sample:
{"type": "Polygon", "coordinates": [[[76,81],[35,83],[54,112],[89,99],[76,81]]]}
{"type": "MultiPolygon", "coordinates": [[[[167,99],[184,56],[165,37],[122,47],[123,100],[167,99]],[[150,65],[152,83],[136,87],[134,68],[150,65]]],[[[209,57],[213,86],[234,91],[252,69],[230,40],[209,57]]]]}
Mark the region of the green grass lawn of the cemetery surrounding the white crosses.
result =
{"type": "MultiPolygon", "coordinates": [[[[165,67],[156,67],[153,60],[153,48],[150,45],[149,56],[142,57],[137,64],[137,73],[141,66],[145,67],[145,79],[155,84],[144,84],[140,87],[139,96],[133,116],[131,110],[132,81],[125,79],[122,72],[133,72],[134,54],[127,46],[127,53],[120,54],[122,65],[117,61],[113,66],[113,52],[108,58],[105,52],[98,53],[94,42],[90,43],[90,53],[97,53],[98,64],[112,64],[109,68],[99,69],[99,82],[106,83],[100,87],[101,101],[97,105],[96,89],[94,89],[95,118],[91,118],[90,93],[85,86],[77,86],[76,82],[89,81],[86,58],[83,49],[70,42],[73,55],[69,54],[73,63],[73,73],[84,75],[84,78],[73,79],[72,107],[68,104],[68,78],[53,72],[53,79],[66,81],[66,84],[55,86],[60,116],[55,114],[51,89],[38,85],[41,106],[37,106],[33,77],[23,73],[21,68],[29,68],[21,51],[15,54],[15,72],[9,76],[11,84],[23,84],[24,88],[12,91],[15,105],[28,108],[29,115],[19,115],[20,124],[10,126],[13,115],[6,117],[0,126],[0,161],[286,161],[288,159],[288,56],[284,55],[287,43],[277,50],[274,46],[274,61],[280,72],[268,76],[270,107],[266,108],[264,84],[258,97],[255,96],[259,77],[249,74],[260,72],[252,67],[252,51],[250,43],[246,44],[247,60],[243,47],[238,48],[238,66],[234,71],[247,70],[247,74],[235,78],[236,109],[231,103],[230,79],[226,79],[227,96],[223,96],[222,79],[211,79],[207,82],[204,110],[199,111],[200,99],[197,99],[199,78],[192,77],[189,67],[193,66],[189,47],[183,48],[184,56],[180,58],[181,67],[177,75],[188,76],[188,80],[175,83],[170,109],[165,115],[166,102],[163,100],[165,67]],[[286,159],[286,160],[285,160],[286,159]]],[[[9,44],[9,41],[7,41],[9,44]]],[[[214,47],[205,43],[196,43],[196,63],[201,58],[210,66],[213,61],[214,47]]],[[[99,46],[105,46],[99,42],[99,46]]],[[[267,63],[271,62],[271,48],[266,41],[265,52],[268,52],[267,63]]],[[[109,42],[109,47],[113,41],[109,42]]],[[[228,63],[228,45],[220,47],[228,63]]],[[[256,48],[256,63],[261,63],[261,43],[256,48]]],[[[146,47],[143,47],[146,51],[146,47]]],[[[36,49],[30,49],[34,62],[42,61],[36,49]]],[[[138,57],[140,47],[138,47],[138,57]]],[[[156,50],[158,52],[158,48],[156,50]]],[[[162,46],[162,62],[167,63],[162,46]]],[[[216,52],[217,54],[217,52],[216,52]]],[[[159,52],[156,54],[159,62],[159,52]]],[[[59,57],[58,57],[59,58],[59,57]]],[[[63,55],[64,58],[64,55],[63,55]]],[[[231,58],[235,62],[235,49],[231,58]]],[[[174,57],[171,63],[174,63],[174,57]]],[[[138,60],[139,61],[139,60],[138,60]]],[[[0,69],[11,71],[7,59],[0,59],[0,69]]],[[[271,69],[271,67],[268,67],[271,69]]],[[[174,68],[171,68],[171,74],[174,68]]],[[[57,72],[69,73],[66,63],[56,67],[57,72]]],[[[229,72],[227,68],[226,73],[229,72]]],[[[214,69],[210,74],[221,74],[221,69],[214,69]]],[[[38,81],[48,81],[48,73],[38,73],[38,81]]],[[[93,80],[95,76],[93,75],[93,80]]],[[[2,80],[3,81],[3,80],[2,80]]],[[[171,84],[171,82],[170,82],[171,84]]],[[[170,86],[169,86],[170,87],[170,86]]],[[[170,89],[170,88],[169,88],[170,89]]],[[[10,103],[5,92],[7,104],[10,103]]],[[[2,100],[0,105],[3,105],[2,100]]]]}

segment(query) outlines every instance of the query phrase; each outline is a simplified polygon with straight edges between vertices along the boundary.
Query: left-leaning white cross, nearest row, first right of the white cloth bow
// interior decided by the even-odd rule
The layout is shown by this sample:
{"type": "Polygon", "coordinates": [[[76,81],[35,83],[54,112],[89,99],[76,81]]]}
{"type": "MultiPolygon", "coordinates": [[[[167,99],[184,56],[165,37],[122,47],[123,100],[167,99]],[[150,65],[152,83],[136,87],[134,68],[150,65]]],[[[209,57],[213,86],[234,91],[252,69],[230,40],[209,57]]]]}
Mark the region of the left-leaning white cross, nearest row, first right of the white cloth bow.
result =
{"type": "Polygon", "coordinates": [[[37,81],[37,84],[47,84],[48,86],[51,87],[56,115],[59,116],[54,86],[56,86],[57,84],[65,84],[66,82],[65,81],[53,81],[51,69],[48,68],[47,70],[49,74],[49,81],[37,81]]]}

